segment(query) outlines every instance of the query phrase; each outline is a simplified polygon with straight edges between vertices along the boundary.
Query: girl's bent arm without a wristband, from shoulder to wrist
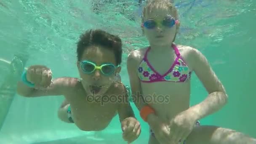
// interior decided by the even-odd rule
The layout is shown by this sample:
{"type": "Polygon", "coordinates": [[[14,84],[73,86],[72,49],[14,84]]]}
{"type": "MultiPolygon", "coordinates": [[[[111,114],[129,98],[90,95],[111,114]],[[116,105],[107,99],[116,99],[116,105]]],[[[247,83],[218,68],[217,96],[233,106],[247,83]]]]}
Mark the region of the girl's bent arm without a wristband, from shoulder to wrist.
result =
{"type": "Polygon", "coordinates": [[[221,109],[227,103],[228,96],[205,56],[195,48],[189,51],[193,70],[208,91],[208,96],[204,101],[188,109],[195,113],[196,120],[200,120],[221,109]]]}

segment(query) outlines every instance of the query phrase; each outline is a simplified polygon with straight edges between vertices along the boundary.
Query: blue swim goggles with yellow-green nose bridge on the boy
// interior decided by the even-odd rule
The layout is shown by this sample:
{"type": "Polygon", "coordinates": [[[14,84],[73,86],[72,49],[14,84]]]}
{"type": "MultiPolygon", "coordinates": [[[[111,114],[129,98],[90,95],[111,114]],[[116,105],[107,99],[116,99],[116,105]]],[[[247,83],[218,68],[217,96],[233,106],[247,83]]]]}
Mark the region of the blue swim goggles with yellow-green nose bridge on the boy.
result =
{"type": "Polygon", "coordinates": [[[115,69],[118,67],[112,63],[105,63],[101,64],[101,66],[97,66],[95,63],[88,60],[80,61],[79,64],[81,69],[83,69],[83,72],[86,74],[91,74],[96,69],[99,69],[101,73],[104,75],[112,75],[115,72],[115,69]]]}

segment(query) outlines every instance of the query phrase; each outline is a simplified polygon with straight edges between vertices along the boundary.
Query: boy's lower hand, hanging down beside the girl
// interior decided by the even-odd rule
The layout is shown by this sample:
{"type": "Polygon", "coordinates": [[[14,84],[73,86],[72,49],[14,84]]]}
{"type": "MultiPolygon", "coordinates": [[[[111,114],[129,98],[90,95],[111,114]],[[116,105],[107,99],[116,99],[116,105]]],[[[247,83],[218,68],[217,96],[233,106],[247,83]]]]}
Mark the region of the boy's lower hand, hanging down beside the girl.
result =
{"type": "Polygon", "coordinates": [[[141,125],[134,117],[125,118],[122,123],[123,139],[130,144],[136,140],[141,133],[141,125]]]}

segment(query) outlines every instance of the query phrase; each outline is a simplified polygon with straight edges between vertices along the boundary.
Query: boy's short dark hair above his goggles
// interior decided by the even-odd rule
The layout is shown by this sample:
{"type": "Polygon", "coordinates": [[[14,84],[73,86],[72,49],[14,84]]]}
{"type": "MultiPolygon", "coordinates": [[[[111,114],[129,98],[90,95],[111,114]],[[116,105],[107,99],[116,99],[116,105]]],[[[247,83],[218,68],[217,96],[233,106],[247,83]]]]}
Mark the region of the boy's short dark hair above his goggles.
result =
{"type": "Polygon", "coordinates": [[[111,35],[101,29],[89,29],[80,36],[77,43],[77,61],[81,60],[83,52],[91,45],[100,45],[114,52],[117,65],[122,61],[122,40],[120,37],[111,35]]]}

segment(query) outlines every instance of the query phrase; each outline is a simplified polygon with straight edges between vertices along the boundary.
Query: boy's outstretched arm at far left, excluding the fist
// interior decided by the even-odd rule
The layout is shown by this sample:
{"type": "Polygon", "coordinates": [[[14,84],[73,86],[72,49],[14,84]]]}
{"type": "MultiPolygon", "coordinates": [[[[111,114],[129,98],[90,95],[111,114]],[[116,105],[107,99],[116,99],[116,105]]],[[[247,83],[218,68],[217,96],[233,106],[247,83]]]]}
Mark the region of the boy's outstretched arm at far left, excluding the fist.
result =
{"type": "Polygon", "coordinates": [[[38,97],[38,96],[59,96],[65,95],[77,84],[77,79],[72,77],[60,77],[54,79],[51,85],[47,88],[37,89],[30,88],[22,81],[18,82],[17,93],[24,97],[38,97]]]}

